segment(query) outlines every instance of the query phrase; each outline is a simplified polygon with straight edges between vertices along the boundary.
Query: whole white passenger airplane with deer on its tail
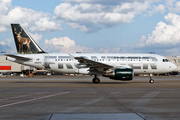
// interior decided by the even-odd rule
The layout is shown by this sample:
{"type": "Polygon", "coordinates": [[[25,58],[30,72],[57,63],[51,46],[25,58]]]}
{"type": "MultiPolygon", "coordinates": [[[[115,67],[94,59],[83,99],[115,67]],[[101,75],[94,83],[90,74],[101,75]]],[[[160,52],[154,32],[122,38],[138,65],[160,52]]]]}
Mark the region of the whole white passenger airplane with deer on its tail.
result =
{"type": "Polygon", "coordinates": [[[11,28],[18,54],[5,54],[6,60],[59,73],[94,75],[93,83],[100,83],[99,76],[129,81],[135,74],[149,74],[149,83],[154,83],[153,74],[177,68],[157,54],[47,53],[20,24],[11,24],[11,28]]]}

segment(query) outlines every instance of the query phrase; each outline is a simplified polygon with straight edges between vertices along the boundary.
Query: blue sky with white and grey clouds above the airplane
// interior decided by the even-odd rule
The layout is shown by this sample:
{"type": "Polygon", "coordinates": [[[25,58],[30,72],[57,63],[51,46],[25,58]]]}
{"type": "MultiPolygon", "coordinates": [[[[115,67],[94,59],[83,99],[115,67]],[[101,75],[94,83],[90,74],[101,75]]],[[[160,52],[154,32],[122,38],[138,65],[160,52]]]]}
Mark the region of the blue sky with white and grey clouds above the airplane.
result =
{"type": "Polygon", "coordinates": [[[11,23],[48,53],[180,56],[178,0],[0,0],[0,51],[16,54],[11,23]]]}

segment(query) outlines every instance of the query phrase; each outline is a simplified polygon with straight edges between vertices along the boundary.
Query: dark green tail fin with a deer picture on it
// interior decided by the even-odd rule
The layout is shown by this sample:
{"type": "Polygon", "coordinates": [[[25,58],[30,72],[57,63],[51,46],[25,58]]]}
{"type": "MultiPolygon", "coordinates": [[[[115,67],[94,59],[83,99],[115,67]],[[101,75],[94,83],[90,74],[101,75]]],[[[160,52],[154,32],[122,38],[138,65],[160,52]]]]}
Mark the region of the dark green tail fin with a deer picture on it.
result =
{"type": "Polygon", "coordinates": [[[21,27],[20,24],[11,24],[14,41],[18,54],[38,54],[44,52],[34,39],[21,27]]]}

